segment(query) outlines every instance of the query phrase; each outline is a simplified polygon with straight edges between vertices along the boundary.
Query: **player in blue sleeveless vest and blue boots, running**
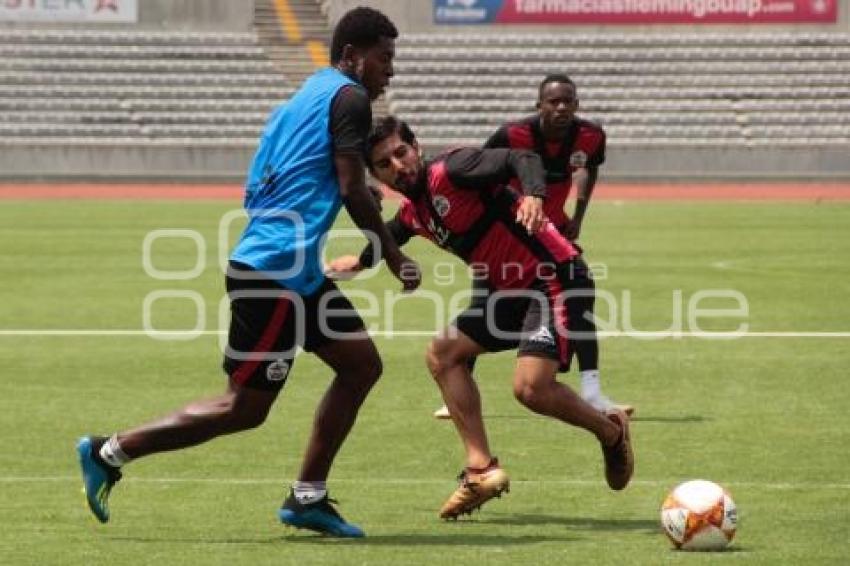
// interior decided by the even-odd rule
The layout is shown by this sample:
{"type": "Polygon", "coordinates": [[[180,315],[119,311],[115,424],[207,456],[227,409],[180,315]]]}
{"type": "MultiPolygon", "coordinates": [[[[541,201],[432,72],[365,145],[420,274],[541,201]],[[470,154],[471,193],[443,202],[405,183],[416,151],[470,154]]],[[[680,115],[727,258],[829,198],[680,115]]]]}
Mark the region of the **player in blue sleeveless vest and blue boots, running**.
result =
{"type": "Polygon", "coordinates": [[[261,425],[300,346],[336,376],[316,410],[298,481],[278,517],[325,534],[363,536],[331,505],[325,482],[381,374],[381,359],[351,303],[322,273],[320,246],[344,204],[361,230],[377,236],[405,290],[419,284],[418,266],[384,227],[363,162],[371,101],[393,76],[397,36],[376,10],[348,12],[333,33],[331,67],[309,77],[271,114],[246,183],[248,224],[226,275],[232,314],[226,391],[111,437],[80,439],[86,498],[101,522],[109,520],[109,494],[127,462],[261,425]]]}

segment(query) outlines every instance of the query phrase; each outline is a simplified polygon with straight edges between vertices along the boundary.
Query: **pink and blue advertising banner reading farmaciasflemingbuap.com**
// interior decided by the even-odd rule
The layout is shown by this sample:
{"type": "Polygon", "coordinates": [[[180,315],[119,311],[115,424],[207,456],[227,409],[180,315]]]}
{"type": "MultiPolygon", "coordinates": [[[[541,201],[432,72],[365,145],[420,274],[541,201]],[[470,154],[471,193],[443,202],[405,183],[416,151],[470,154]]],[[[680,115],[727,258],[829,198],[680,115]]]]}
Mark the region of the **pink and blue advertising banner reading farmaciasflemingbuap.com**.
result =
{"type": "Polygon", "coordinates": [[[434,0],[437,24],[836,23],[838,0],[434,0]]]}

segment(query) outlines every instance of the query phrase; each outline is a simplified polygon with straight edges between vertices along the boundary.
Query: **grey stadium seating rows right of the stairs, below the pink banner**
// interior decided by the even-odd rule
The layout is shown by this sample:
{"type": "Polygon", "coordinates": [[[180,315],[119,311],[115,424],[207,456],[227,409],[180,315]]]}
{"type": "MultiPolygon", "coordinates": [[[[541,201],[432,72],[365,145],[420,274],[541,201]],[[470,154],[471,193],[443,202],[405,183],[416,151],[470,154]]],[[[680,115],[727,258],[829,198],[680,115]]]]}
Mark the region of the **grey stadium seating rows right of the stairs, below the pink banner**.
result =
{"type": "MultiPolygon", "coordinates": [[[[431,148],[480,144],[566,73],[609,145],[828,147],[850,155],[850,34],[403,35],[390,110],[431,148]]],[[[848,158],[850,159],[850,158],[848,158]]]]}

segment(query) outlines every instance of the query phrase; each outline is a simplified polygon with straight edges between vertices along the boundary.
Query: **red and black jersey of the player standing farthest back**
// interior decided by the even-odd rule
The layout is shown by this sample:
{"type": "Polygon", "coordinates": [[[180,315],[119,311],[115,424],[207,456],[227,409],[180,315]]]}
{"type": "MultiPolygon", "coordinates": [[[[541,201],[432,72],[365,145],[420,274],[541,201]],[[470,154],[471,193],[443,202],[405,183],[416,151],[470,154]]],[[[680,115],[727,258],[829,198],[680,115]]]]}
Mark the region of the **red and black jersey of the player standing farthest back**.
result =
{"type": "Polygon", "coordinates": [[[567,221],[564,205],[570,194],[572,174],[576,169],[599,167],[605,162],[605,131],[598,124],[576,117],[562,141],[550,142],[543,137],[540,117],[535,114],[502,125],[484,147],[537,153],[546,170],[546,216],[556,226],[563,226],[567,221]]]}

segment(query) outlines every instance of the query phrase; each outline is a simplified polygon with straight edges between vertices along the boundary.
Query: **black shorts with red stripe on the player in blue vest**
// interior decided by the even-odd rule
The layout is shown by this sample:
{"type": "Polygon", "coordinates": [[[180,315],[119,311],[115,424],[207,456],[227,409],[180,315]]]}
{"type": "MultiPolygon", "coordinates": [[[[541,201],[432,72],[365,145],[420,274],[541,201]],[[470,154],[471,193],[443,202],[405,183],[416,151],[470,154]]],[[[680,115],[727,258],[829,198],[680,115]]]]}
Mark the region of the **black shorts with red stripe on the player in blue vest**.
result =
{"type": "Polygon", "coordinates": [[[231,320],[223,365],[243,387],[280,390],[299,347],[311,352],[364,329],[351,302],[329,279],[304,296],[230,262],[226,285],[231,320]]]}

